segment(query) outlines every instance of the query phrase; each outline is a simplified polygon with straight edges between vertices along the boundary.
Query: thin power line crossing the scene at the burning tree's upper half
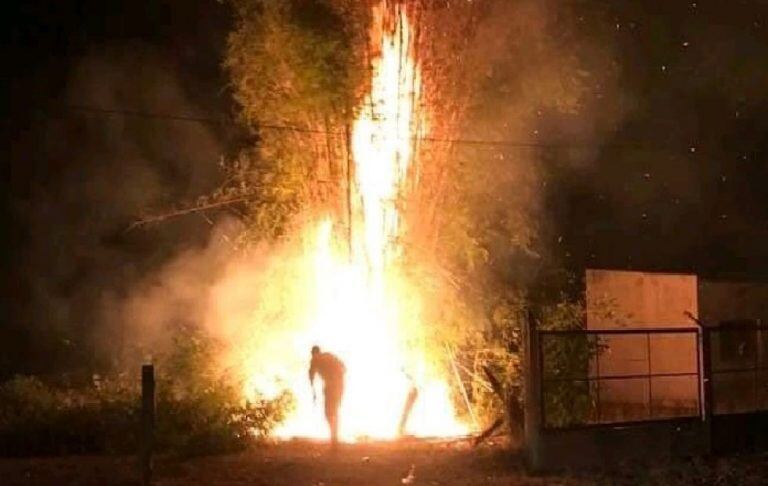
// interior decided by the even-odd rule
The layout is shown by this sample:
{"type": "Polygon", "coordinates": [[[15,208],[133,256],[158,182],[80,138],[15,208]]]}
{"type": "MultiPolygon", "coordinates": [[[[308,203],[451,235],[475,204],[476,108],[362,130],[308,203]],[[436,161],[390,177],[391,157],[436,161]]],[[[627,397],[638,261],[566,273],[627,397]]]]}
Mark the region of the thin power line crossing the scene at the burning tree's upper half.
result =
{"type": "MultiPolygon", "coordinates": [[[[187,123],[199,123],[204,125],[224,125],[224,126],[237,126],[238,123],[230,117],[212,118],[204,116],[191,116],[191,115],[175,115],[168,113],[154,113],[141,110],[127,110],[117,108],[100,108],[94,106],[85,105],[64,105],[54,108],[58,111],[80,112],[90,113],[95,115],[107,115],[107,116],[123,116],[144,118],[153,120],[170,120],[177,122],[187,123]]],[[[50,111],[50,110],[44,110],[50,111]]],[[[310,133],[317,135],[336,135],[346,136],[342,131],[332,130],[316,130],[297,125],[286,125],[277,123],[259,123],[258,128],[260,130],[276,130],[276,131],[288,131],[297,133],[310,133]]],[[[594,143],[594,142],[523,142],[517,140],[482,140],[482,139],[464,139],[464,138],[439,138],[439,137],[415,137],[414,141],[425,143],[443,143],[443,144],[455,144],[455,145],[467,145],[467,146],[487,146],[487,147],[515,147],[515,148],[529,148],[529,149],[549,149],[549,150],[593,150],[593,149],[632,149],[632,150],[648,150],[648,151],[675,151],[675,152],[696,152],[696,147],[682,147],[682,146],[650,146],[641,143],[594,143]]]]}

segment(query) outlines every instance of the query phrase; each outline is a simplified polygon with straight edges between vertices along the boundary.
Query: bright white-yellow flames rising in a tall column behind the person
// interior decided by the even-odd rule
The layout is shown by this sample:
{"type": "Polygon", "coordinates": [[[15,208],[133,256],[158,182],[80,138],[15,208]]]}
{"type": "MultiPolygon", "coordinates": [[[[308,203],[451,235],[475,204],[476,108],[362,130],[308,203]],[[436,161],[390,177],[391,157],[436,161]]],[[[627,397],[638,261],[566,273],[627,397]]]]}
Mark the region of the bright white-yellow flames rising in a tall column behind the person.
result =
{"type": "MultiPolygon", "coordinates": [[[[401,6],[382,2],[374,10],[371,92],[352,127],[352,154],[359,198],[351,231],[352,255],[334,238],[326,218],[308,230],[301,288],[291,289],[297,306],[296,332],[284,342],[292,356],[285,383],[296,398],[295,413],[278,431],[283,437],[328,437],[321,403],[314,404],[306,367],[312,344],[339,356],[347,366],[341,407],[341,437],[387,439],[398,426],[409,391],[418,398],[405,432],[417,436],[466,433],[456,419],[445,373],[431,359],[441,352],[422,320],[419,291],[398,265],[413,141],[425,126],[418,100],[421,81],[413,32],[401,6]],[[389,26],[389,27],[382,27],[389,26]],[[432,341],[430,341],[432,340],[432,341]]],[[[286,329],[291,324],[286,324],[286,329]]],[[[286,331],[288,332],[288,331],[286,331]]],[[[279,351],[273,359],[281,359],[279,351]]],[[[287,359],[287,358],[283,358],[287,359]]],[[[249,386],[264,390],[253,370],[249,386]]],[[[318,394],[318,400],[321,400],[318,394]]]]}

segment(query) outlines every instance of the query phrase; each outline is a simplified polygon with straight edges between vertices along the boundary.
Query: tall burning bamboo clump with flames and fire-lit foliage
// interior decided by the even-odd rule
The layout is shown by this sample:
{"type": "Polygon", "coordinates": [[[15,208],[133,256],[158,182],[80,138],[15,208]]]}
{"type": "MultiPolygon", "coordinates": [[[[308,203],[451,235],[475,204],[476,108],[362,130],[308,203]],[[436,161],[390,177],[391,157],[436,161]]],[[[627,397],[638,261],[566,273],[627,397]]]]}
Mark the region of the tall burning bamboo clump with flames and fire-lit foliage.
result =
{"type": "MultiPolygon", "coordinates": [[[[536,257],[539,174],[530,156],[471,136],[504,132],[487,112],[511,84],[524,91],[509,103],[517,128],[535,108],[576,109],[583,74],[562,75],[558,61],[497,80],[505,2],[231,4],[225,66],[255,143],[201,207],[237,204],[240,247],[261,256],[213,290],[209,319],[233,343],[226,364],[247,396],[292,392],[283,434],[325,435],[304,376],[316,343],[350,370],[347,438],[396,435],[404,404],[411,433],[466,431],[457,410],[498,407],[481,370],[516,378],[525,282],[509,268],[536,257]],[[266,258],[254,250],[265,245],[266,258]]],[[[523,44],[552,58],[548,11],[522,5],[515,28],[541,24],[523,44]]]]}

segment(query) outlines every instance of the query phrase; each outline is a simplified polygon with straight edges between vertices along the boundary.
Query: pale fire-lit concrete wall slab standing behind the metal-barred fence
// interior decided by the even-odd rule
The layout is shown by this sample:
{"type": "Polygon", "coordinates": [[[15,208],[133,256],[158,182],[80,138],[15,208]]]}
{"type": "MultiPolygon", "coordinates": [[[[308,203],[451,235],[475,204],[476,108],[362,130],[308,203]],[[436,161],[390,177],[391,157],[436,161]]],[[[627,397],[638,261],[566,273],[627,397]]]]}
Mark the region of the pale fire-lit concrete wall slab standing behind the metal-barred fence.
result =
{"type": "MultiPolygon", "coordinates": [[[[698,315],[695,275],[587,270],[587,328],[691,328],[698,315]]],[[[600,376],[696,373],[696,334],[603,335],[600,376]]],[[[695,376],[602,381],[603,420],[641,420],[696,412],[695,376]],[[607,406],[606,406],[607,405],[607,406]]]]}

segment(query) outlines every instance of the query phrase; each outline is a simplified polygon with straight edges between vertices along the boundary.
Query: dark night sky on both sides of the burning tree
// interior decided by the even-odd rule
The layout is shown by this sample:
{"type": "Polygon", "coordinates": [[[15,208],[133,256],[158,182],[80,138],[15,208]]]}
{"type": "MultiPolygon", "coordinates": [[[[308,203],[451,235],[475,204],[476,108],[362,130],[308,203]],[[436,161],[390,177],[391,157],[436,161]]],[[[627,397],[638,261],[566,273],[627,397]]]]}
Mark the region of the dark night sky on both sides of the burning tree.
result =
{"type": "MultiPolygon", "coordinates": [[[[575,271],[768,278],[768,2],[572,3],[584,32],[613,32],[632,109],[587,166],[542,151],[546,255],[575,271]]],[[[142,207],[214,187],[218,156],[231,149],[215,126],[105,121],[62,106],[108,101],[212,117],[232,109],[220,69],[230,17],[219,2],[6,8],[0,339],[12,344],[0,374],[66,361],[70,347],[87,346],[77,330],[104,319],[92,307],[105,292],[119,296],[180,248],[203,244],[201,219],[123,229],[142,207]],[[158,134],[163,144],[149,142],[158,134]],[[201,137],[209,141],[190,149],[201,137]],[[109,191],[92,190],[104,180],[114,181],[109,191]],[[132,192],[142,181],[150,189],[132,192]]]]}

